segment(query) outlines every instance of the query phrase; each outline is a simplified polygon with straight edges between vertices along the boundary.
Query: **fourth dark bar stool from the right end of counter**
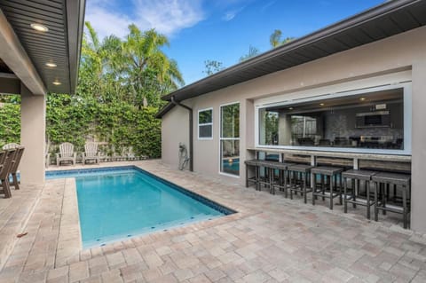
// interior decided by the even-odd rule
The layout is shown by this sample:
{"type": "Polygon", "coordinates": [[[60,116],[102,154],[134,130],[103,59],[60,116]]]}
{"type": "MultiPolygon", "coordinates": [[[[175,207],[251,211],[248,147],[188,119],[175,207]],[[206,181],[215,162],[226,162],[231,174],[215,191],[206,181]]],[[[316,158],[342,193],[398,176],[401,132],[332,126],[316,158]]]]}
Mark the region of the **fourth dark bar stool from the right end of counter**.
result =
{"type": "Polygon", "coordinates": [[[288,166],[288,179],[290,190],[290,200],[293,200],[293,192],[302,193],[304,195],[304,203],[307,202],[307,193],[311,193],[312,189],[308,188],[308,177],[313,166],[304,164],[294,164],[288,166]],[[298,184],[299,183],[299,184],[298,184]]]}

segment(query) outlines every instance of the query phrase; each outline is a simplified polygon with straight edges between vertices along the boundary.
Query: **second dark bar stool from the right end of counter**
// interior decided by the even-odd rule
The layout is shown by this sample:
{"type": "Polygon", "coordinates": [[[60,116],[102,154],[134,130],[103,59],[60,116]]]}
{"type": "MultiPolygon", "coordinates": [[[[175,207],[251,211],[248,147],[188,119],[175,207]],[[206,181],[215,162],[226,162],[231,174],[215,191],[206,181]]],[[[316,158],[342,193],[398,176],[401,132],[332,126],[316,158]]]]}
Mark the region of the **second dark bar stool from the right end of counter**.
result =
{"type": "Polygon", "coordinates": [[[373,177],[377,172],[375,171],[369,171],[369,170],[356,170],[351,169],[344,171],[342,173],[343,177],[343,204],[344,204],[344,213],[348,213],[348,203],[351,203],[353,205],[353,208],[357,207],[358,205],[366,206],[367,207],[367,219],[370,219],[370,208],[375,204],[375,201],[370,201],[370,181],[371,177],[373,177]],[[351,194],[348,194],[348,178],[351,179],[351,194]],[[360,181],[365,182],[366,186],[366,200],[359,201],[357,200],[357,189],[359,190],[359,183],[360,181]]]}

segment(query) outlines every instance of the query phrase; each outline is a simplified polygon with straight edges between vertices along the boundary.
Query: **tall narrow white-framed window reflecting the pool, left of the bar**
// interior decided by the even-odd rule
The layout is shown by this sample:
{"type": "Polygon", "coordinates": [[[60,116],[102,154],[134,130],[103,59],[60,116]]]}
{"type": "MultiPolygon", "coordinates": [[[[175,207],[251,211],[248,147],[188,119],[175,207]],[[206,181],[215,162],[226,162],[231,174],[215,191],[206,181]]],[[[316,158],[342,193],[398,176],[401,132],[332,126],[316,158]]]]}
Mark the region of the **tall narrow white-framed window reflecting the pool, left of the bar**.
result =
{"type": "Polygon", "coordinates": [[[220,107],[220,172],[240,176],[240,104],[220,107]]]}

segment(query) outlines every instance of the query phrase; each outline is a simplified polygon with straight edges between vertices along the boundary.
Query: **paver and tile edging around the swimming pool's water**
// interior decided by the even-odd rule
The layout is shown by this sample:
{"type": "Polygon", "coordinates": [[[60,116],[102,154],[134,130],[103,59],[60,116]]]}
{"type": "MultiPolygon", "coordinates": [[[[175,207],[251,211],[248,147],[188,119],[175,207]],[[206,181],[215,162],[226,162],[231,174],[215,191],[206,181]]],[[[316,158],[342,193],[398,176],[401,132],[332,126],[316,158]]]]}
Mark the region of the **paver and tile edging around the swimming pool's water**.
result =
{"type": "MultiPolygon", "coordinates": [[[[139,172],[147,174],[150,177],[154,177],[155,179],[160,180],[161,182],[164,182],[167,185],[172,186],[173,189],[176,189],[180,193],[185,193],[185,195],[195,200],[201,201],[202,203],[209,206],[210,208],[217,209],[219,212],[224,213],[224,216],[215,217],[209,220],[201,220],[200,222],[177,225],[174,227],[170,227],[169,229],[165,231],[160,230],[160,231],[154,231],[154,232],[146,232],[139,235],[134,235],[131,238],[123,238],[123,239],[107,241],[101,247],[94,246],[89,248],[83,248],[75,177],[65,177],[64,178],[64,181],[65,181],[64,197],[62,202],[62,213],[61,213],[62,216],[61,216],[60,224],[59,224],[59,239],[58,239],[57,253],[56,253],[55,264],[54,264],[55,268],[58,268],[59,266],[67,265],[68,263],[75,261],[75,257],[80,257],[84,252],[90,252],[91,254],[94,254],[96,253],[96,250],[99,250],[99,248],[108,249],[108,248],[114,247],[117,244],[122,244],[123,246],[126,246],[126,243],[129,244],[132,241],[140,241],[146,237],[152,237],[157,234],[161,235],[162,233],[178,232],[179,228],[196,227],[196,229],[198,229],[200,225],[211,226],[216,224],[222,224],[224,221],[228,221],[228,219],[231,217],[232,219],[235,219],[235,218],[241,218],[243,216],[241,215],[241,211],[238,211],[237,209],[229,208],[229,206],[225,206],[216,200],[210,200],[209,198],[202,196],[200,193],[193,192],[193,190],[185,188],[181,185],[174,184],[162,177],[156,176],[155,174],[147,171],[146,169],[140,168],[138,165],[122,165],[122,166],[119,165],[119,166],[111,166],[111,167],[100,167],[96,169],[91,168],[91,169],[53,170],[51,172],[55,172],[55,173],[68,172],[69,173],[70,171],[73,171],[73,172],[88,171],[88,170],[89,171],[105,171],[108,169],[110,170],[136,169],[139,172]],[[223,209],[225,209],[226,212],[222,211],[223,209]]],[[[64,173],[64,175],[65,174],[66,173],[64,173]]],[[[247,216],[252,214],[255,214],[255,213],[248,213],[247,216]]],[[[244,216],[246,216],[246,214],[244,214],[244,216]]]]}

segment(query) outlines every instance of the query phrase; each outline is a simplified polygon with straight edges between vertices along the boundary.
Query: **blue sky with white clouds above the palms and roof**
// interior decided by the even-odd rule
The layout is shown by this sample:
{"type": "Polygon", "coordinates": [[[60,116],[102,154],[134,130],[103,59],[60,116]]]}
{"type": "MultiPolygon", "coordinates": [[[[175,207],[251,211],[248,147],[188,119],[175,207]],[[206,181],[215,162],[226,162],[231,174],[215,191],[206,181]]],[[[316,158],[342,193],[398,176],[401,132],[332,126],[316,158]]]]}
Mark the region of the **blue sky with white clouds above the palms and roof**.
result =
{"type": "Polygon", "coordinates": [[[362,12],[383,0],[87,0],[86,19],[100,37],[123,37],[135,23],[170,39],[164,51],[176,59],[185,83],[205,76],[204,61],[238,63],[250,45],[271,49],[269,36],[300,37],[362,12]]]}

